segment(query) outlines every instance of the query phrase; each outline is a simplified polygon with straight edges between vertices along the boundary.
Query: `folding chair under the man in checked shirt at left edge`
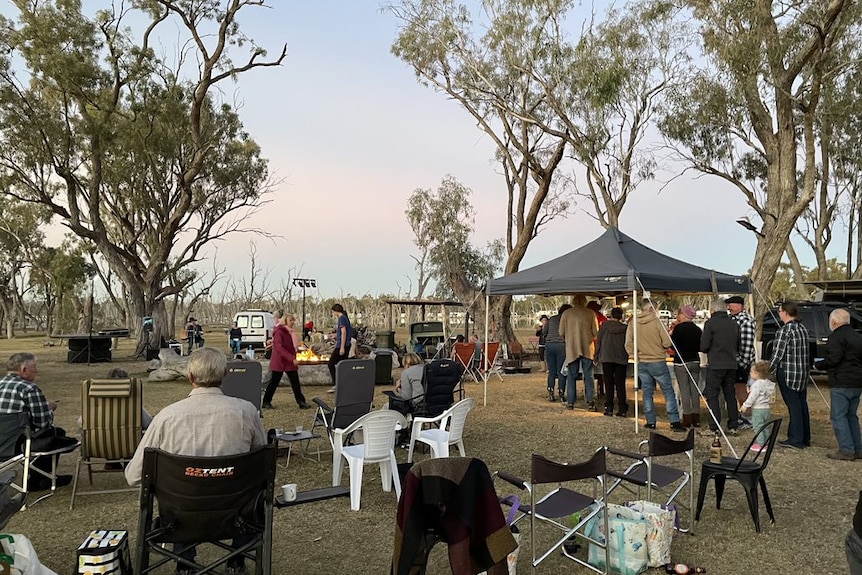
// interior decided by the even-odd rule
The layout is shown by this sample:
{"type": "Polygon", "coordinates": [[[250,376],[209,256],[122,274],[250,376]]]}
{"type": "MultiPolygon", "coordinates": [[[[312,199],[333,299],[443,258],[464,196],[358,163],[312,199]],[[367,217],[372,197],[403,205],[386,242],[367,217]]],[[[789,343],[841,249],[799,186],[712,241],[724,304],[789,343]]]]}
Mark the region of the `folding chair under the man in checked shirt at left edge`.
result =
{"type": "MultiPolygon", "coordinates": [[[[43,430],[43,432],[52,431],[43,430]]],[[[0,459],[4,459],[5,463],[0,466],[0,470],[8,470],[15,465],[21,465],[23,469],[22,480],[20,484],[13,483],[12,487],[21,493],[28,494],[31,475],[47,477],[51,480],[51,488],[47,493],[43,494],[30,505],[51,497],[57,491],[57,462],[59,456],[64,453],[71,453],[81,446],[81,442],[71,437],[64,438],[66,445],[49,450],[40,450],[34,446],[42,443],[46,438],[40,434],[34,434],[30,430],[29,416],[24,413],[3,413],[0,414],[0,459]],[[10,450],[11,445],[11,450],[10,450]],[[21,453],[16,453],[20,451],[21,453]],[[36,462],[40,458],[50,458],[51,469],[44,470],[36,466],[36,462]],[[7,466],[7,464],[9,466],[7,466]]],[[[27,508],[25,503],[22,509],[27,508]]]]}

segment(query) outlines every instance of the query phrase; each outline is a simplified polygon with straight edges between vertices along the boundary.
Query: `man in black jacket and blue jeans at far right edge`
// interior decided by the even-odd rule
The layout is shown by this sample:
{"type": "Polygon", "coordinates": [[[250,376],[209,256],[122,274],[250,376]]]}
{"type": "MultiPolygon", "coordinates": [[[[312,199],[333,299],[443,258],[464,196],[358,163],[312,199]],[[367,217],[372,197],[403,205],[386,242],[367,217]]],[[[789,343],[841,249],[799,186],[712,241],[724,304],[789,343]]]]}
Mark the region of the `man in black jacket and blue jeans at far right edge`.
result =
{"type": "Polygon", "coordinates": [[[862,395],[862,335],[850,327],[850,312],[832,310],[829,314],[829,341],[826,357],[814,366],[829,372],[829,418],[838,440],[838,451],[830,459],[853,461],[862,458],[859,435],[859,396],[862,395]]]}

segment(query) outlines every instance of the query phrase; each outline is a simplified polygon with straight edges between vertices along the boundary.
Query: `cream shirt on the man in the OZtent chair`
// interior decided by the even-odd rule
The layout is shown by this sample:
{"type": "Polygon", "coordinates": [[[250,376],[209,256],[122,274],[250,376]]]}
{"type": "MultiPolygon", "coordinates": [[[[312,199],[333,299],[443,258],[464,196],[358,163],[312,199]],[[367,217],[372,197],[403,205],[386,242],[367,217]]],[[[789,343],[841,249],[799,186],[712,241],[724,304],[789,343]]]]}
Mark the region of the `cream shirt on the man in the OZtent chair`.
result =
{"type": "Polygon", "coordinates": [[[144,449],[156,447],[177,455],[211,457],[248,453],[266,444],[266,433],[254,406],[229,397],[219,387],[193,388],[153,418],[134,457],[126,466],[129,485],[141,482],[144,449]]]}

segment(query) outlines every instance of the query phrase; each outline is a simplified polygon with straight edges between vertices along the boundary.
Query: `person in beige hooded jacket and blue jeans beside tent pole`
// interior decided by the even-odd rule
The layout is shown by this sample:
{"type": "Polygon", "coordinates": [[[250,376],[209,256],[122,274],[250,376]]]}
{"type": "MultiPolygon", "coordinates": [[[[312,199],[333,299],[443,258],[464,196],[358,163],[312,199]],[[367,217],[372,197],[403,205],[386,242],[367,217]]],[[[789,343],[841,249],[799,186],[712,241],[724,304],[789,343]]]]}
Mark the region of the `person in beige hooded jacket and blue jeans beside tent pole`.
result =
{"type": "Polygon", "coordinates": [[[667,350],[672,345],[670,336],[659,321],[653,305],[646,301],[626,330],[626,352],[629,355],[635,354],[635,322],[638,330],[638,379],[644,390],[644,417],[647,420],[645,427],[655,429],[653,395],[655,384],[658,383],[667,406],[670,428],[674,431],[685,431],[685,427],[679,422],[676,394],[673,392],[673,382],[667,367],[667,350]]]}

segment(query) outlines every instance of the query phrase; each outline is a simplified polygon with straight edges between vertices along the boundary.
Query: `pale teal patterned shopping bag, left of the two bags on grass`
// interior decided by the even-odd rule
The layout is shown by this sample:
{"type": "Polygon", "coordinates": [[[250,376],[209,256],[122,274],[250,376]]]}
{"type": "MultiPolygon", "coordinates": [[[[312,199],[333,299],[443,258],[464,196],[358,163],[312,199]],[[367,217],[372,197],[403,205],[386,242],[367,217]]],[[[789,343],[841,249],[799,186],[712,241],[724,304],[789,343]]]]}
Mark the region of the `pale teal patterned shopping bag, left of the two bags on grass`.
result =
{"type": "MultiPolygon", "coordinates": [[[[620,575],[643,573],[649,563],[647,520],[639,511],[613,503],[607,504],[606,511],[610,537],[605,537],[601,513],[590,519],[586,529],[587,536],[600,543],[607,541],[610,548],[610,570],[620,575]]],[[[605,570],[605,554],[598,545],[590,544],[587,561],[590,565],[605,570]]]]}

